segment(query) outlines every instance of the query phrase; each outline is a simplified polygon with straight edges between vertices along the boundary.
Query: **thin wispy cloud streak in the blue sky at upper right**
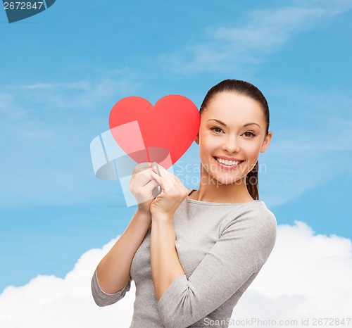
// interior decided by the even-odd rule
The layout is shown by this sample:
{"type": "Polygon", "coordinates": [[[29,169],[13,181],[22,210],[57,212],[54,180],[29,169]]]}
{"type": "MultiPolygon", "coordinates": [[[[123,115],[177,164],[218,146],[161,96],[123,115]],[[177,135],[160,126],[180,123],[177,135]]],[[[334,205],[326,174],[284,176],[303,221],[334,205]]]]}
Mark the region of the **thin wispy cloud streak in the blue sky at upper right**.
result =
{"type": "Polygon", "coordinates": [[[253,11],[245,25],[209,28],[205,31],[206,42],[191,42],[180,52],[161,56],[161,61],[173,72],[238,72],[246,63],[263,62],[266,54],[282,46],[291,35],[351,8],[351,1],[317,0],[253,11]]]}

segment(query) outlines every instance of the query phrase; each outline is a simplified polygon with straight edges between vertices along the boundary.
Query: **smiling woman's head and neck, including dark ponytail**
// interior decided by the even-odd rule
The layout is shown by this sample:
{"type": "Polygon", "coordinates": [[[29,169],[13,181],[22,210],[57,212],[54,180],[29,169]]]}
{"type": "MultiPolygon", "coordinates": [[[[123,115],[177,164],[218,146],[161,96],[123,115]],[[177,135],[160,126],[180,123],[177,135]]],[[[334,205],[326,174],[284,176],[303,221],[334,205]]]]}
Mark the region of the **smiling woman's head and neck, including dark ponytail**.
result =
{"type": "Polygon", "coordinates": [[[209,90],[200,113],[196,143],[200,146],[201,180],[214,179],[201,184],[194,196],[206,200],[206,186],[212,197],[226,198],[230,203],[259,199],[258,155],[268,149],[272,137],[263,94],[248,82],[225,80],[209,90]],[[221,193],[219,182],[223,184],[221,193]],[[215,189],[211,187],[214,184],[215,189]]]}

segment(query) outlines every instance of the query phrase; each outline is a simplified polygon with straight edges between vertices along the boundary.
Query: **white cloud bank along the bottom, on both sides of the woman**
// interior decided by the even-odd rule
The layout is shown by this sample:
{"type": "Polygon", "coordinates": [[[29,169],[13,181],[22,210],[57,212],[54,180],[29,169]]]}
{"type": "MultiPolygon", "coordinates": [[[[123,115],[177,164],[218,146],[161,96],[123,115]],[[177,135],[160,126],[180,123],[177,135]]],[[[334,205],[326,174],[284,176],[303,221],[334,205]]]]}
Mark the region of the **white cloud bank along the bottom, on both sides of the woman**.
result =
{"type": "MultiPolygon", "coordinates": [[[[130,327],[133,282],[125,298],[106,308],[95,305],[90,291],[94,268],[114,242],[84,253],[64,279],[39,276],[25,286],[5,289],[0,295],[0,327],[130,327]]],[[[351,276],[351,240],[315,235],[304,222],[279,225],[268,263],[234,308],[232,318],[299,322],[351,317],[351,276]]]]}

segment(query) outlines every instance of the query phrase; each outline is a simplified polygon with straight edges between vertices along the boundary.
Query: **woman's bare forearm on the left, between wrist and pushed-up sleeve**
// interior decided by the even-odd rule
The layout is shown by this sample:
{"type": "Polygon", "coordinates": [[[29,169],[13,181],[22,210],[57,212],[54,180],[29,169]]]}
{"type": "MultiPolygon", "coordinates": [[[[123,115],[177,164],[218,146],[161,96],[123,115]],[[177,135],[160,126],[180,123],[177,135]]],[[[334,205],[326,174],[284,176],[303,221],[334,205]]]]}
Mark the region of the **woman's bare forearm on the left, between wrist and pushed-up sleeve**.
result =
{"type": "Polygon", "coordinates": [[[103,257],[96,273],[101,289],[108,294],[120,291],[130,280],[131,263],[151,225],[151,215],[137,210],[125,232],[103,257]]]}

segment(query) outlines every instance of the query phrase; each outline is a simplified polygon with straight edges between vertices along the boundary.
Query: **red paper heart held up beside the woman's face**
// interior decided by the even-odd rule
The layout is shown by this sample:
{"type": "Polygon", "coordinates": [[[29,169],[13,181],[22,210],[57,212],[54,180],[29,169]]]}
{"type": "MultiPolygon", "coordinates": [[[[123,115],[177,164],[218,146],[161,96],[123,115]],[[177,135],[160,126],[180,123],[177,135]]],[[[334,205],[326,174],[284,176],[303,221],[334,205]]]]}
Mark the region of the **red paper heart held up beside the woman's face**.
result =
{"type": "Polygon", "coordinates": [[[121,99],[111,109],[109,126],[115,141],[137,163],[161,163],[170,153],[168,169],[189,149],[199,132],[198,108],[172,94],[155,106],[144,98],[121,99]],[[171,163],[170,163],[171,162],[171,163]]]}

